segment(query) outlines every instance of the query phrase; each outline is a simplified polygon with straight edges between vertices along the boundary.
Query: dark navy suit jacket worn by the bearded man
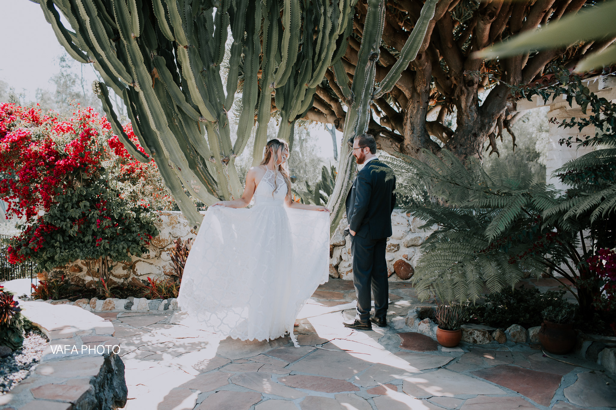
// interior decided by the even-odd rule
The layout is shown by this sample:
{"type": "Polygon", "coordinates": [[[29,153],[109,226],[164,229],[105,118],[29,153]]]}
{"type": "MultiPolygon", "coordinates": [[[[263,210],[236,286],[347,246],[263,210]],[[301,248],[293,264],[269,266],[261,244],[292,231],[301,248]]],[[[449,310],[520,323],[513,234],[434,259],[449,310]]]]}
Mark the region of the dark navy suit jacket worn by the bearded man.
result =
{"type": "Polygon", "coordinates": [[[395,178],[385,181],[387,167],[373,159],[357,174],[346,198],[347,221],[351,231],[362,238],[381,239],[392,235],[391,213],[395,206],[395,178]]]}

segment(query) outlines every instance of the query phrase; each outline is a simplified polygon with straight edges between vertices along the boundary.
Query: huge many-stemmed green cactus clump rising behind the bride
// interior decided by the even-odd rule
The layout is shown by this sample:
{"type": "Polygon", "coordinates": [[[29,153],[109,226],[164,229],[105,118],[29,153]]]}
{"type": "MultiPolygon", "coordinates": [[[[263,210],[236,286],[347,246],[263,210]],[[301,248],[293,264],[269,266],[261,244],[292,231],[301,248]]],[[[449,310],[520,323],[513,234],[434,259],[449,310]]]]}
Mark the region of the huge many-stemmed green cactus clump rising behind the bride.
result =
{"type": "Polygon", "coordinates": [[[282,118],[278,135],[293,143],[294,122],[312,106],[325,69],[344,55],[356,1],[38,0],[69,55],[102,76],[94,88],[115,132],[147,160],[122,135],[107,87],[123,98],[140,143],[195,226],[201,218],[188,194],[206,204],[241,195],[235,157],[255,123],[255,160],[273,111],[282,118]],[[228,113],[238,90],[232,142],[228,113]]]}

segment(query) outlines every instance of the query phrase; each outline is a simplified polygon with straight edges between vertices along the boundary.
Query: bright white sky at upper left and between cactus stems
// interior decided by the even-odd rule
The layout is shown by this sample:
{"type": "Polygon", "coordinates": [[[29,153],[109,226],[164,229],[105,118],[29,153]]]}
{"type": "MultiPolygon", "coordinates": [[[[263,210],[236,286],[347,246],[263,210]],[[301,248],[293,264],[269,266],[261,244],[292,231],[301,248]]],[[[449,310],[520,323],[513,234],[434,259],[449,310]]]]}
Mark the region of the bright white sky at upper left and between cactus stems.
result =
{"type": "MultiPolygon", "coordinates": [[[[34,100],[36,89],[54,90],[49,78],[60,71],[57,58],[65,52],[47,23],[41,6],[28,0],[0,0],[0,80],[34,100]]],[[[91,65],[84,66],[87,83],[94,81],[91,65]],[[86,68],[87,66],[87,68],[86,68]]],[[[320,156],[331,157],[331,135],[322,124],[311,127],[320,156]]],[[[341,133],[338,136],[340,145],[341,133]]]]}

